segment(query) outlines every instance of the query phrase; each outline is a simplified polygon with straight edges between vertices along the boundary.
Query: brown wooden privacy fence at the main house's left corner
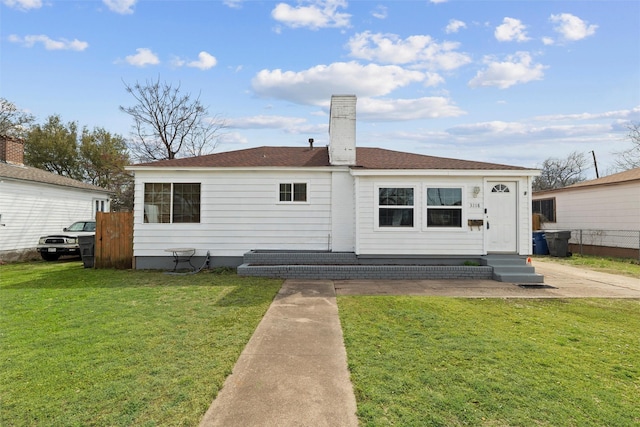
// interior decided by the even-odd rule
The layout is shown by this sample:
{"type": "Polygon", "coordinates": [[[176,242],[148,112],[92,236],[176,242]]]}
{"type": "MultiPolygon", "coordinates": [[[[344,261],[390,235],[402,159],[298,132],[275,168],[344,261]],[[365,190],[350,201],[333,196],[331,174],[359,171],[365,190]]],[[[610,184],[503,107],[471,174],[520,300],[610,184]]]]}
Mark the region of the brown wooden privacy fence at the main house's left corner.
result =
{"type": "Polygon", "coordinates": [[[133,212],[96,213],[95,268],[133,265],[133,212]]]}

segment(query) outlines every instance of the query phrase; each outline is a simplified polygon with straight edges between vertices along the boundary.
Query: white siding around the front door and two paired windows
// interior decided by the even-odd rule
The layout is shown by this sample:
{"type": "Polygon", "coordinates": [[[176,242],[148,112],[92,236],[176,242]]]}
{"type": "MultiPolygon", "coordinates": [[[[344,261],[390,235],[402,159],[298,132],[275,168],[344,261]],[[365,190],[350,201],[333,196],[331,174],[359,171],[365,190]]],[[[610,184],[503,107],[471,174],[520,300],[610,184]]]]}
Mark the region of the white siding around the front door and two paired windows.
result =
{"type": "Polygon", "coordinates": [[[484,193],[490,185],[504,180],[517,183],[517,252],[531,254],[531,178],[502,176],[434,176],[425,175],[356,177],[356,253],[361,255],[483,255],[486,254],[486,215],[484,193]],[[382,230],[376,226],[378,220],[376,188],[378,186],[415,187],[415,213],[413,229],[393,228],[382,230]],[[462,227],[427,226],[427,188],[462,189],[462,227]],[[476,189],[477,188],[477,189],[476,189]],[[469,220],[482,220],[481,226],[468,225],[469,220]]]}

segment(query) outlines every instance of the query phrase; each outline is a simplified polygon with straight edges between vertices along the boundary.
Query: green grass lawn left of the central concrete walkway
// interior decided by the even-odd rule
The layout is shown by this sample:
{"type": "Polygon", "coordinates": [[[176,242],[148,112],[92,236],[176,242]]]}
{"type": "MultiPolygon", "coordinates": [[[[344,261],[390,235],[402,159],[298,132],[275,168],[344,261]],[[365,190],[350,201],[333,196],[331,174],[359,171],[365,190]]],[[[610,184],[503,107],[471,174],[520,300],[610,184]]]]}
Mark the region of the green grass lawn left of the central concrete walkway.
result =
{"type": "Polygon", "coordinates": [[[197,425],[280,285],[0,266],[0,425],[197,425]]]}

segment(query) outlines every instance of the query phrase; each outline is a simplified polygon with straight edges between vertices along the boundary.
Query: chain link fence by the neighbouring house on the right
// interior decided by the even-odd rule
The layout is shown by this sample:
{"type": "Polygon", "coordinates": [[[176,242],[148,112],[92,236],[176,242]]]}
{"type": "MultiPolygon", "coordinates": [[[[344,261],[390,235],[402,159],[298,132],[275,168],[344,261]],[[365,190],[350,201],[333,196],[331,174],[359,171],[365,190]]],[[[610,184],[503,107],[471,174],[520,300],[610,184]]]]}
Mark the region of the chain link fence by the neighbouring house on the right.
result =
{"type": "Polygon", "coordinates": [[[640,230],[571,230],[571,252],[640,260],[640,230]]]}

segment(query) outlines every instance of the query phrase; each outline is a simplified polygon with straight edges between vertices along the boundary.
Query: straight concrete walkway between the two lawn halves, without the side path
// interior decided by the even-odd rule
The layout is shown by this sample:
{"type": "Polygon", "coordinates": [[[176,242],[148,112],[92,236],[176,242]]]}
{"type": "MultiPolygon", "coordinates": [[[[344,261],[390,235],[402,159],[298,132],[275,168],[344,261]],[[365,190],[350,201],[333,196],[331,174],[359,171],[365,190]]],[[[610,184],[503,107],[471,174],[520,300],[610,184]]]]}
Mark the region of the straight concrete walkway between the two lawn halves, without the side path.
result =
{"type": "Polygon", "coordinates": [[[332,281],[287,280],[204,426],[357,426],[332,281]]]}

